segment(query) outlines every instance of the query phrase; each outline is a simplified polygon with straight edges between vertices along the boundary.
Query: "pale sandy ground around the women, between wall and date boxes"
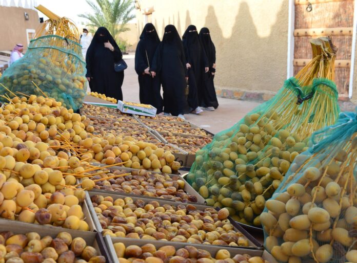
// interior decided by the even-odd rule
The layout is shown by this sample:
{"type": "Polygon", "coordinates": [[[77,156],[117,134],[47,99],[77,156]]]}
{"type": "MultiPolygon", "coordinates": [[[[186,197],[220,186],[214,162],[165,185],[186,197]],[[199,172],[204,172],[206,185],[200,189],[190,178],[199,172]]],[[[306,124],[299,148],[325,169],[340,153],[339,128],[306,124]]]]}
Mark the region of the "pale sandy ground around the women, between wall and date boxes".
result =
{"type": "MultiPolygon", "coordinates": [[[[123,98],[126,101],[140,102],[137,74],[134,70],[134,55],[124,55],[124,59],[128,64],[128,68],[125,70],[122,86],[123,98]]],[[[225,98],[218,98],[218,101],[220,106],[214,112],[204,111],[200,115],[187,114],[185,115],[186,120],[216,134],[221,130],[230,128],[259,105],[256,102],[225,98]]]]}

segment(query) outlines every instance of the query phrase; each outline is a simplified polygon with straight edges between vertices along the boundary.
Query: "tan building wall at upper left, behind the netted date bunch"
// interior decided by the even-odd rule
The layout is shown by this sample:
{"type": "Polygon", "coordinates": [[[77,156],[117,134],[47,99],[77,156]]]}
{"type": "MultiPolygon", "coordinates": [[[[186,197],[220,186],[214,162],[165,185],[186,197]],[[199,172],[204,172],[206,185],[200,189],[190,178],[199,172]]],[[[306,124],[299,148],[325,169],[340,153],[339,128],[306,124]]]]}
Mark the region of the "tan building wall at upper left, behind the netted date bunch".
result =
{"type": "Polygon", "coordinates": [[[36,30],[39,26],[37,11],[0,6],[0,18],[0,50],[12,50],[16,43],[22,43],[26,50],[26,29],[36,30]],[[29,14],[29,20],[25,20],[24,12],[29,14]]]}

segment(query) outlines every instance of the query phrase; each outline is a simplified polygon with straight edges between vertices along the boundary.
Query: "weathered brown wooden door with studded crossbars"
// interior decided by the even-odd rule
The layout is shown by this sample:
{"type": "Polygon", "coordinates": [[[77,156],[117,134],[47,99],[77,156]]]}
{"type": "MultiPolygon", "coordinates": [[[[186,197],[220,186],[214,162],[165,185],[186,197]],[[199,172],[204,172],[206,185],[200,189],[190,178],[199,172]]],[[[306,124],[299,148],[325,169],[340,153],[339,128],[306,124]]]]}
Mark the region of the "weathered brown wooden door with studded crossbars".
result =
{"type": "Polygon", "coordinates": [[[348,98],[353,0],[294,0],[294,75],[311,59],[311,37],[331,36],[338,48],[335,62],[335,83],[340,98],[348,98]]]}

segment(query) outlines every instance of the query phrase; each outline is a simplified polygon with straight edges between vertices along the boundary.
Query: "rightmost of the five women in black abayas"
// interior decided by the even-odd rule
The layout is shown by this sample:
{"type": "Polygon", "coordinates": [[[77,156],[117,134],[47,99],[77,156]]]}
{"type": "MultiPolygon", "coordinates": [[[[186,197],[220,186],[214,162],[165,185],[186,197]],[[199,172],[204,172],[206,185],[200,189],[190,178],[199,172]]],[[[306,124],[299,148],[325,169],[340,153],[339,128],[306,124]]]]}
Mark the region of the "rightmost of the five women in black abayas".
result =
{"type": "Polygon", "coordinates": [[[202,85],[203,93],[203,103],[207,111],[214,111],[218,107],[217,96],[214,89],[214,74],[215,74],[215,48],[211,40],[211,35],[208,28],[202,28],[200,30],[200,40],[202,47],[205,50],[209,71],[204,74],[204,81],[202,85]]]}

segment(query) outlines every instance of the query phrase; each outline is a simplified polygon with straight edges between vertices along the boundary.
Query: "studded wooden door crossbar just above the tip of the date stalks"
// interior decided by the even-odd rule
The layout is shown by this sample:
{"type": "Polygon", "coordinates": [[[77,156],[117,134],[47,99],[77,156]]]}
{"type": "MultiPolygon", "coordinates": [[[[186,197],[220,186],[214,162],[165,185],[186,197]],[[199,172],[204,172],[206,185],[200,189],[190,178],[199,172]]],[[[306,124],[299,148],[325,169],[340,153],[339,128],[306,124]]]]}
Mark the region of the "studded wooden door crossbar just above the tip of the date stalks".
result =
{"type": "Polygon", "coordinates": [[[294,36],[351,36],[353,28],[300,28],[294,36]]]}

